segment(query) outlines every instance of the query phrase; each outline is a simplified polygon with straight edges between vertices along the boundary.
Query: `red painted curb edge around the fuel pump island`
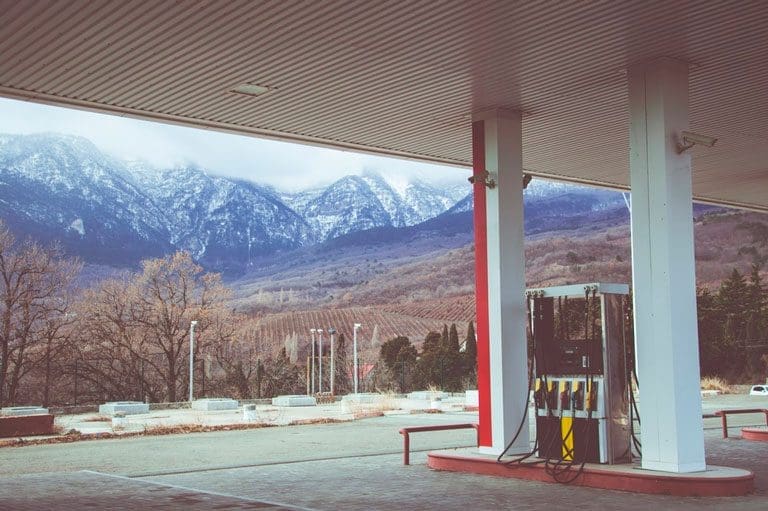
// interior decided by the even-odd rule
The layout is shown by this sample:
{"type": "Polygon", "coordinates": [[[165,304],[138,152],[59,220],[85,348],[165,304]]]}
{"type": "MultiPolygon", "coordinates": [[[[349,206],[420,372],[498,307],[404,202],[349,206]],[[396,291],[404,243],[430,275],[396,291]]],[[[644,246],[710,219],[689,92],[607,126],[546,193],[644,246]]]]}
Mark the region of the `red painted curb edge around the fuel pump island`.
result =
{"type": "MultiPolygon", "coordinates": [[[[507,466],[497,463],[492,458],[431,452],[427,455],[427,465],[432,469],[448,472],[555,482],[546,473],[543,464],[507,466]]],[[[755,475],[746,470],[744,475],[712,477],[695,474],[681,476],[664,475],[659,472],[643,473],[631,465],[627,465],[626,471],[615,470],[615,468],[614,466],[612,470],[605,470],[596,468],[594,465],[586,465],[583,473],[570,484],[677,497],[735,497],[747,495],[754,489],[755,475]]]]}

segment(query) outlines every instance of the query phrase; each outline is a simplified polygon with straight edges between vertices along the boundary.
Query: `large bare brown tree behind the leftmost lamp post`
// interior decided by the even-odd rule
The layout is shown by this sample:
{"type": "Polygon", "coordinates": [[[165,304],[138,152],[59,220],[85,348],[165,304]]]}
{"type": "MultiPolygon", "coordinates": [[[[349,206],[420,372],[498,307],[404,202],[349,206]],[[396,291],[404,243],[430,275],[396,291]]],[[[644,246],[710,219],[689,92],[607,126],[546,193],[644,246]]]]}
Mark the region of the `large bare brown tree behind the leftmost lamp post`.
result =
{"type": "Polygon", "coordinates": [[[188,376],[189,328],[195,359],[233,335],[229,290],[188,252],[143,261],[142,271],[102,283],[82,303],[83,363],[94,384],[116,397],[141,388],[151,399],[176,401],[188,376]],[[158,384],[159,383],[159,384],[158,384]]]}

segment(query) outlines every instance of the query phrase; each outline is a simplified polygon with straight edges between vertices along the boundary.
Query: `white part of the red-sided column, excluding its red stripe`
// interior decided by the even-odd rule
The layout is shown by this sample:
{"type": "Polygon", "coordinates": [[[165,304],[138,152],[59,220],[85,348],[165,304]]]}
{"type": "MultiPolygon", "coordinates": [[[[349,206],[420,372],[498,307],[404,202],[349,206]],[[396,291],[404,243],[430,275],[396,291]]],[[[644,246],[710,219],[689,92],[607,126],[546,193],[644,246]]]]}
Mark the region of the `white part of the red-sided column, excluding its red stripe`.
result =
{"type": "Polygon", "coordinates": [[[491,110],[483,121],[485,167],[494,188],[486,188],[488,330],[491,446],[499,454],[520,433],[508,454],[530,450],[525,333],[525,251],[523,247],[523,158],[520,113],[491,110]]]}

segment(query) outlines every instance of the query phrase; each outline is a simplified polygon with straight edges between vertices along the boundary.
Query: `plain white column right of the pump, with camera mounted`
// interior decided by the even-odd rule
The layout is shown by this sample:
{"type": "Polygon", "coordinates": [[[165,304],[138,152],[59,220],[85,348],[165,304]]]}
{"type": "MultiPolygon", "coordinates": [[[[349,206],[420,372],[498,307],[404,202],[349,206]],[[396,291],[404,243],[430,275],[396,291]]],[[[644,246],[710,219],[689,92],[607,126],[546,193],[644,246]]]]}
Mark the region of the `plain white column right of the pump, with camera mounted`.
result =
{"type": "Polygon", "coordinates": [[[688,66],[663,58],[629,70],[632,281],[642,466],[705,470],[699,390],[688,66]]]}

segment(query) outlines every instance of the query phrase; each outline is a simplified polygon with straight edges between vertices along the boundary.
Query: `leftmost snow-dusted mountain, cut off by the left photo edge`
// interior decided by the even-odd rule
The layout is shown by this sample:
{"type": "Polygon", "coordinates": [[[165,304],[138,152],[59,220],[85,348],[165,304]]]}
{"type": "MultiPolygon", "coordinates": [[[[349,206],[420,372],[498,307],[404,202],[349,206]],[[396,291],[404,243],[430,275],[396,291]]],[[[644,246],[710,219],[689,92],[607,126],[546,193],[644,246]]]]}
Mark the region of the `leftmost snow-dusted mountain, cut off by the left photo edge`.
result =
{"type": "Polygon", "coordinates": [[[88,140],[0,135],[0,216],[23,237],[57,241],[99,263],[171,249],[164,214],[88,140]]]}

